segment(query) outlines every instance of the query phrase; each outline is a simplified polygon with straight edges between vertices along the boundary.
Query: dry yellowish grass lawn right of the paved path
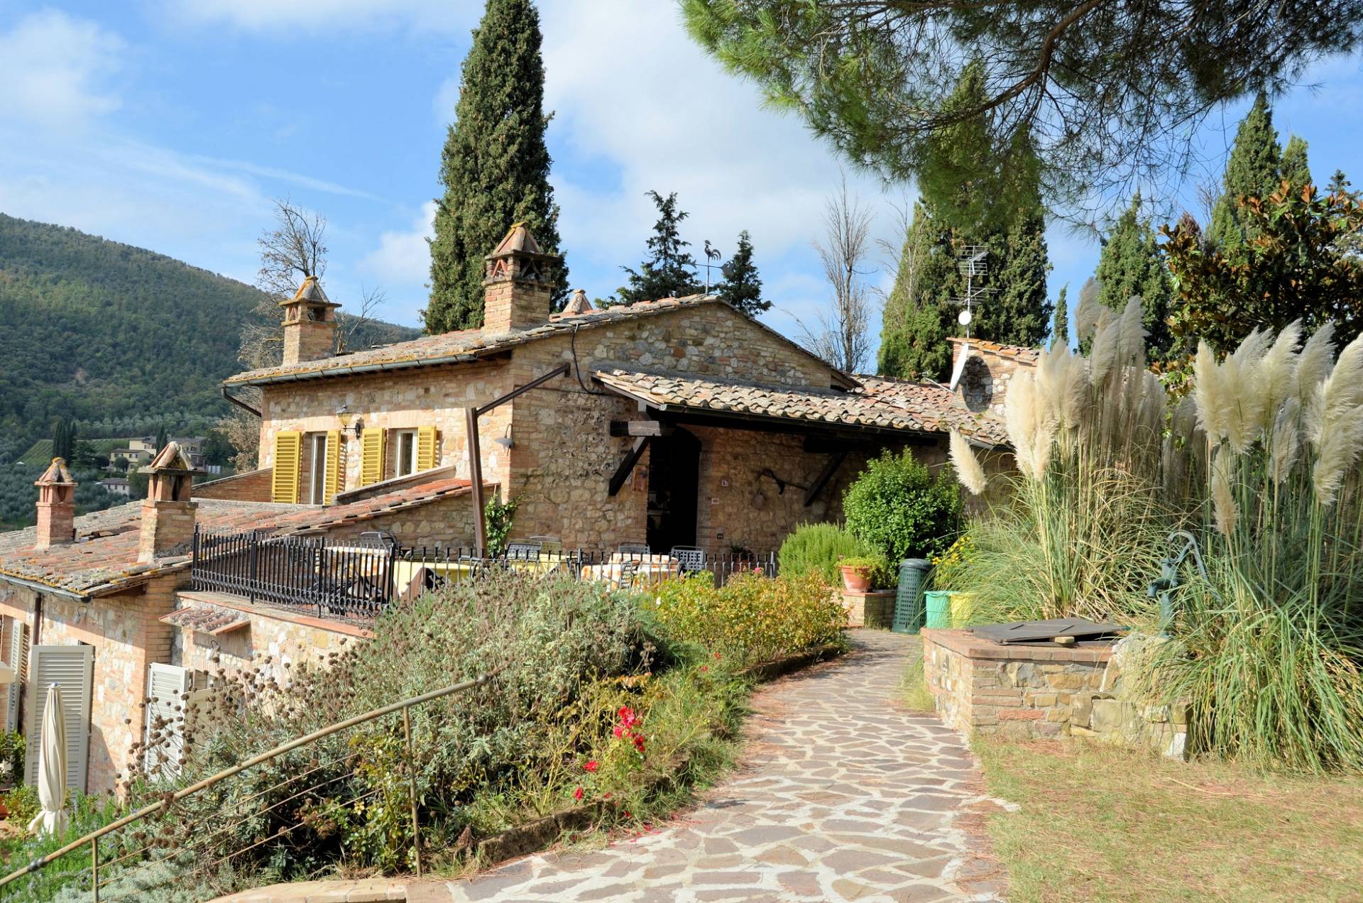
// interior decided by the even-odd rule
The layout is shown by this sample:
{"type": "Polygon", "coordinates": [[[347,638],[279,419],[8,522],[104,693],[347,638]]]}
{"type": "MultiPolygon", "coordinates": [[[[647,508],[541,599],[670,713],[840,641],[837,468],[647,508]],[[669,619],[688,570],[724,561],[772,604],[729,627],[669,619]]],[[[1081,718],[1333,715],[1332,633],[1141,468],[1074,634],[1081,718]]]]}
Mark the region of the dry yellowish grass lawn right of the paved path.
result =
{"type": "Polygon", "coordinates": [[[1363,778],[980,738],[1009,900],[1363,900],[1363,778]]]}

